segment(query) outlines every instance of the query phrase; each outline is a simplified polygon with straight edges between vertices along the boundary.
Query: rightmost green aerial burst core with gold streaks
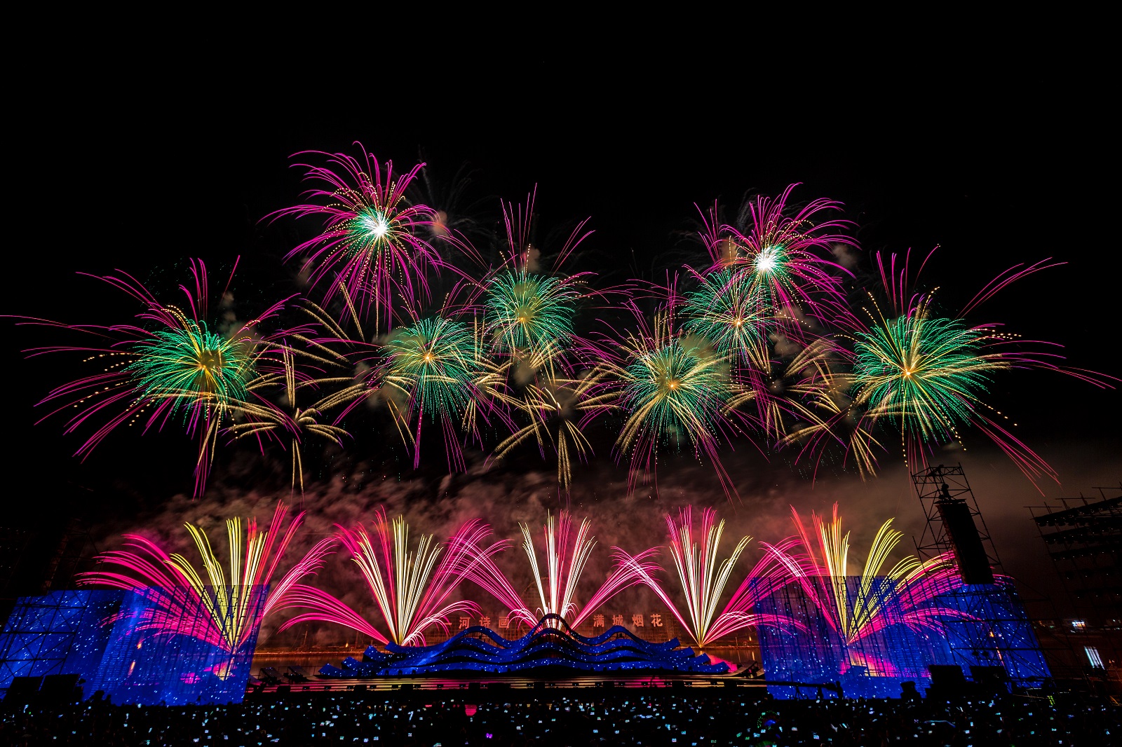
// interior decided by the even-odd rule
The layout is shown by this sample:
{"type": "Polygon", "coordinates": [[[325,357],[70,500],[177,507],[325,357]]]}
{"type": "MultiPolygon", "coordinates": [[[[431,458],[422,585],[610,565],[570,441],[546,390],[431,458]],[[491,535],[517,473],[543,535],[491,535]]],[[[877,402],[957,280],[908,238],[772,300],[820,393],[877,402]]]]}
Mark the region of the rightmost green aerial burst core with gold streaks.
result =
{"type": "Polygon", "coordinates": [[[929,317],[920,304],[907,315],[882,320],[857,335],[854,347],[858,403],[874,417],[899,418],[901,428],[922,440],[948,437],[971,418],[988,371],[1009,368],[982,353],[986,328],[929,317]]]}

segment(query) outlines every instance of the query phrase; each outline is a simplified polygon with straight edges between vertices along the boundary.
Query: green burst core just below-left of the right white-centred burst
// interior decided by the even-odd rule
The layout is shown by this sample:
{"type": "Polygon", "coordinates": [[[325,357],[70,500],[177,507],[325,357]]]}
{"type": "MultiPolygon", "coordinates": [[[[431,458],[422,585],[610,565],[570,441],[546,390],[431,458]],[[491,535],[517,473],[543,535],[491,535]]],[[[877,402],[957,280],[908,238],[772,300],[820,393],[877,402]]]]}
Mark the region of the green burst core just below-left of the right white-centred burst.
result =
{"type": "Polygon", "coordinates": [[[729,360],[747,365],[766,357],[766,304],[744,269],[724,269],[700,278],[686,295],[683,328],[705,338],[729,360]]]}

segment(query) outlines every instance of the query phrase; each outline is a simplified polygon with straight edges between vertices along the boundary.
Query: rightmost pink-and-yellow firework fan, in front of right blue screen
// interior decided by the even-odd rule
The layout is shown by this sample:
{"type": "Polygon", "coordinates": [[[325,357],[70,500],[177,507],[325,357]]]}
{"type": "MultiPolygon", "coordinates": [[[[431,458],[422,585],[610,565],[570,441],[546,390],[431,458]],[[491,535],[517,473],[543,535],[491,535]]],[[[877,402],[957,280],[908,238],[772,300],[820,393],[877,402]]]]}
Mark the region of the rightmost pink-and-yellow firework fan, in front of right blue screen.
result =
{"type": "Polygon", "coordinates": [[[889,555],[903,537],[889,519],[873,538],[854,589],[848,583],[849,533],[842,534],[837,505],[828,524],[822,517],[811,515],[813,533],[793,508],[791,514],[797,536],[761,546],[790,573],[846,645],[895,624],[941,633],[941,618],[963,617],[958,610],[937,605],[940,594],[962,583],[950,553],[922,562],[909,555],[884,573],[889,555]],[[795,547],[801,552],[791,552],[795,547]]]}

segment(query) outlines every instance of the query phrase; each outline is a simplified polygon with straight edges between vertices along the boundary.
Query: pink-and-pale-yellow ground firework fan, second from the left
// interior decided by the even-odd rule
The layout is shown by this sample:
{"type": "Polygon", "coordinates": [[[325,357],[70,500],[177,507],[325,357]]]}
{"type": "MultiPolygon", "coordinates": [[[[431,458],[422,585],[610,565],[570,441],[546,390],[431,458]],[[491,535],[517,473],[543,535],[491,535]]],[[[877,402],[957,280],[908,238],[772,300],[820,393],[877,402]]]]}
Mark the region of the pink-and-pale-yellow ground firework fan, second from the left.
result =
{"type": "Polygon", "coordinates": [[[380,643],[424,645],[426,628],[438,626],[447,631],[449,616],[478,612],[478,606],[470,600],[449,602],[448,598],[479,563],[488,562],[508,544],[502,541],[484,548],[481,543],[489,529],[472,520],[443,545],[433,544],[432,535],[423,534],[411,550],[405,519],[398,516],[387,520],[384,508],[374,519],[374,538],[361,525],[338,529],[339,540],[362,571],[388,636],[339,599],[307,585],[297,585],[286,607],[311,611],[285,621],[282,630],[320,620],[349,627],[380,643]]]}

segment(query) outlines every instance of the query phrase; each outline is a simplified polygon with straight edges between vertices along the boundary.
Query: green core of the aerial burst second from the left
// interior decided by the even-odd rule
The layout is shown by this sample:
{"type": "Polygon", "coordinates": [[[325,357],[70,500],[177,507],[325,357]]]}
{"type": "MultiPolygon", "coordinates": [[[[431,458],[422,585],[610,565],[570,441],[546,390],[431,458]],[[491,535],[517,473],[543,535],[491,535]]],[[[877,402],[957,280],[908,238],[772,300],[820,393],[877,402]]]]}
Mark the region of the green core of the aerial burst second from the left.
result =
{"type": "Polygon", "coordinates": [[[432,316],[402,328],[386,343],[386,381],[425,415],[462,413],[479,372],[475,335],[462,322],[432,316]]]}

